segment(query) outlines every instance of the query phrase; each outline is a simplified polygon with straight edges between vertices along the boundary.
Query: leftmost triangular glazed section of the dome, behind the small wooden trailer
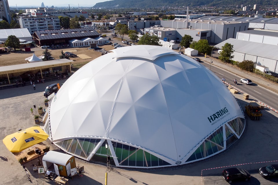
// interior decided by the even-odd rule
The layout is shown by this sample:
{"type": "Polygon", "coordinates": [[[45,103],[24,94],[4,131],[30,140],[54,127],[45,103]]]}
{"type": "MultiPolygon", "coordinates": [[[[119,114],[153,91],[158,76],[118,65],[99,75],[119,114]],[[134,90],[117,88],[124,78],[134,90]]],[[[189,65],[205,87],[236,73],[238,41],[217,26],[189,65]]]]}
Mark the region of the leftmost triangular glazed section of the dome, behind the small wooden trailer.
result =
{"type": "Polygon", "coordinates": [[[55,143],[69,153],[87,158],[94,150],[100,139],[74,138],[55,143]]]}

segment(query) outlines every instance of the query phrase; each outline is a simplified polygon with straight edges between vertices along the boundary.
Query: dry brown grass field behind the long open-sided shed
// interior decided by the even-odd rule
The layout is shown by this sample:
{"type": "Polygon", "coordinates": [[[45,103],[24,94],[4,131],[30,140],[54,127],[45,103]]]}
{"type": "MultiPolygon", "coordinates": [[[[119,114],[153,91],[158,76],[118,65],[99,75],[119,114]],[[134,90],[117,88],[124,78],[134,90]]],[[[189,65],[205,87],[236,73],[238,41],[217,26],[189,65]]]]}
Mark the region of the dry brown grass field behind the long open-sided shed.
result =
{"type": "MultiPolygon", "coordinates": [[[[68,48],[61,48],[61,49],[49,49],[49,51],[52,54],[52,57],[55,59],[59,59],[59,56],[61,55],[61,51],[63,52],[69,51],[74,54],[76,54],[77,58],[70,58],[70,60],[73,60],[74,67],[81,67],[85,65],[86,63],[94,60],[95,58],[98,58],[101,56],[101,51],[104,49],[106,51],[109,51],[111,49],[114,49],[111,45],[99,45],[101,50],[94,51],[93,49],[88,49],[88,47],[68,47],[68,48]],[[82,59],[85,58],[85,59],[82,59]]],[[[45,49],[41,49],[40,47],[32,47],[31,51],[23,51],[17,52],[17,53],[1,53],[0,55],[0,66],[9,66],[9,65],[16,65],[16,64],[26,64],[27,60],[25,58],[28,58],[35,53],[37,57],[43,55],[43,51],[45,49]]]]}

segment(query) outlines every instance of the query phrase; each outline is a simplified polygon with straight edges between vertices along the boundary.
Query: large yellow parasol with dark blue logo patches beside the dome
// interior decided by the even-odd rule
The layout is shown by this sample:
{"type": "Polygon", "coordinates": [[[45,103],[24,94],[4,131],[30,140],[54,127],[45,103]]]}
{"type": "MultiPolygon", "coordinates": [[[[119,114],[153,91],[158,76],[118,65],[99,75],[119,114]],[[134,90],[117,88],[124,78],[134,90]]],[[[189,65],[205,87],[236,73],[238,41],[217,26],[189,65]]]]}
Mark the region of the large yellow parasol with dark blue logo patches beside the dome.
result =
{"type": "Polygon", "coordinates": [[[10,134],[3,139],[3,143],[11,152],[20,152],[37,143],[47,140],[48,135],[40,127],[30,127],[10,134]]]}

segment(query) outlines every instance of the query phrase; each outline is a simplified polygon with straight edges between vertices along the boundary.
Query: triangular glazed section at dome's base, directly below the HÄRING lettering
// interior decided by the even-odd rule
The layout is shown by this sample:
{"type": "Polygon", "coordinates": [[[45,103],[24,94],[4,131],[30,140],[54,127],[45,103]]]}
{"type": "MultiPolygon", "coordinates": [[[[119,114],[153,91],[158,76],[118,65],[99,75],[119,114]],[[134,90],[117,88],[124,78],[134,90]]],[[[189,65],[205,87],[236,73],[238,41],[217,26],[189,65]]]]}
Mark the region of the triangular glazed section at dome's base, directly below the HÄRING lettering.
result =
{"type": "Polygon", "coordinates": [[[202,159],[224,150],[224,139],[222,127],[211,134],[186,160],[186,162],[202,159]]]}

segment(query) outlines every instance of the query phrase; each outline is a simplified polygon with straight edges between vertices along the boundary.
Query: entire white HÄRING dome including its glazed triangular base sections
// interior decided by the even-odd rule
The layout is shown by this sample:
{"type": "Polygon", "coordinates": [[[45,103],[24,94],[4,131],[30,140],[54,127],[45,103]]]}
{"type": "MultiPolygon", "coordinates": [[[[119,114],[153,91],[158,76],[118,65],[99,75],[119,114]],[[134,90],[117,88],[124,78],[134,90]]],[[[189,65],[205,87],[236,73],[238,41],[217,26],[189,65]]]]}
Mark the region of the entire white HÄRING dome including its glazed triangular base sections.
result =
{"type": "Polygon", "coordinates": [[[78,158],[154,168],[211,157],[244,128],[241,107],[211,71],[170,49],[138,45],[76,71],[52,99],[44,129],[78,158]]]}

